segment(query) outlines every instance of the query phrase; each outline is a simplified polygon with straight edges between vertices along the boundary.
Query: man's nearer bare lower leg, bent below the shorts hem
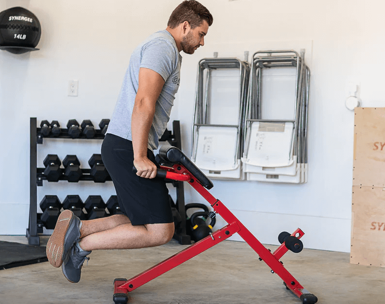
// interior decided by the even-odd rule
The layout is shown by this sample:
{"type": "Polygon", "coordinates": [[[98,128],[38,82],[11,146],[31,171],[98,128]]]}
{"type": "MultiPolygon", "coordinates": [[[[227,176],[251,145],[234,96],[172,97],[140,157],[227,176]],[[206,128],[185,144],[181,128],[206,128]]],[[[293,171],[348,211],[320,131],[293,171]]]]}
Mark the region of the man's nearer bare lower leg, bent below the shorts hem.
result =
{"type": "Polygon", "coordinates": [[[173,235],[174,223],[136,226],[123,223],[108,230],[88,234],[79,241],[79,246],[86,251],[154,247],[169,242],[173,235]]]}

